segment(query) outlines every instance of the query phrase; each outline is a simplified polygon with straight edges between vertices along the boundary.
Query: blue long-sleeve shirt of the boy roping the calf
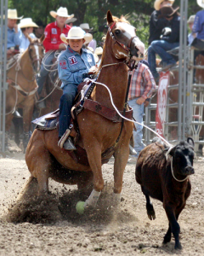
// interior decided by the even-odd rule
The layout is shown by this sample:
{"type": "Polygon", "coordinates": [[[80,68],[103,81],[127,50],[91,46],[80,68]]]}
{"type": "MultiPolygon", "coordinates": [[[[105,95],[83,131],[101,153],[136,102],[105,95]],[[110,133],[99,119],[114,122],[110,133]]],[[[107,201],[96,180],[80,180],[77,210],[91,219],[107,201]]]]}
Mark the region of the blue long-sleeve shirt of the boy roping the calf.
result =
{"type": "Polygon", "coordinates": [[[82,49],[82,55],[72,50],[69,46],[59,55],[59,79],[61,88],[69,84],[82,83],[83,74],[88,73],[90,67],[95,66],[94,55],[88,49],[82,49]]]}

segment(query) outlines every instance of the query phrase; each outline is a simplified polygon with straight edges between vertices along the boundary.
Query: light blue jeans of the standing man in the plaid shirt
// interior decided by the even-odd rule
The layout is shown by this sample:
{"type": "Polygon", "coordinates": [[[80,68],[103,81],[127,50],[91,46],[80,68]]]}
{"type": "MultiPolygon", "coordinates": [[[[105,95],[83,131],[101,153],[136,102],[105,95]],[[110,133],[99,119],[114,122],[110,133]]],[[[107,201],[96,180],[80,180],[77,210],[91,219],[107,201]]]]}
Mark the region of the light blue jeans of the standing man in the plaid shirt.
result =
{"type": "Polygon", "coordinates": [[[145,147],[142,138],[143,138],[143,115],[144,115],[144,103],[139,105],[137,104],[137,100],[139,97],[134,98],[133,100],[129,101],[130,107],[133,108],[133,118],[139,122],[141,125],[135,124],[137,131],[133,131],[133,141],[134,141],[134,149],[139,152],[145,147]]]}

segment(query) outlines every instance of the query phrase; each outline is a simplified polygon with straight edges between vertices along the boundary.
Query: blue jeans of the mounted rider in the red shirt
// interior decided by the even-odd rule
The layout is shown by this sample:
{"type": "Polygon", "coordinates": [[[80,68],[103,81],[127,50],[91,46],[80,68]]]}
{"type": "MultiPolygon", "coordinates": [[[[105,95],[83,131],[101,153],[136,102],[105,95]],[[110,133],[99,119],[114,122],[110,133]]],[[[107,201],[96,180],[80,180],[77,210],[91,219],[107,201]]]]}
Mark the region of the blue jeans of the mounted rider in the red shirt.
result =
{"type": "Polygon", "coordinates": [[[37,89],[37,92],[38,92],[38,95],[41,94],[42,92],[42,88],[43,88],[43,84],[47,78],[47,75],[48,73],[50,72],[50,69],[51,69],[51,66],[53,63],[53,59],[54,59],[54,54],[55,54],[55,51],[52,52],[50,55],[49,55],[49,51],[48,53],[44,56],[43,58],[43,62],[45,64],[45,66],[42,64],[41,65],[41,71],[40,71],[40,74],[37,75],[37,85],[38,85],[38,89],[37,89]],[[47,57],[48,56],[48,57],[47,57]],[[48,66],[46,66],[48,65],[48,66]]]}

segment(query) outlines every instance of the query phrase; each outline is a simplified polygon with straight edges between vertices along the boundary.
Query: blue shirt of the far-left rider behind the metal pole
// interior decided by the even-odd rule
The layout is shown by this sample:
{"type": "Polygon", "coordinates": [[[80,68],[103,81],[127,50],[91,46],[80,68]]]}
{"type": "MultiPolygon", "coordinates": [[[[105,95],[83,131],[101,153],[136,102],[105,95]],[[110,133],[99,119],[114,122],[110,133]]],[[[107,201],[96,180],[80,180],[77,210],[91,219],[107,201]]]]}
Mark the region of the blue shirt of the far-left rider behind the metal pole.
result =
{"type": "MultiPolygon", "coordinates": [[[[0,30],[0,37],[2,37],[2,32],[0,30]]],[[[4,33],[3,33],[3,38],[4,38],[4,33]]],[[[15,47],[15,45],[20,45],[21,39],[20,39],[20,28],[18,28],[18,32],[16,33],[14,31],[14,28],[10,29],[9,27],[7,28],[7,49],[11,47],[15,47]]],[[[4,47],[3,47],[4,51],[4,47]]]]}

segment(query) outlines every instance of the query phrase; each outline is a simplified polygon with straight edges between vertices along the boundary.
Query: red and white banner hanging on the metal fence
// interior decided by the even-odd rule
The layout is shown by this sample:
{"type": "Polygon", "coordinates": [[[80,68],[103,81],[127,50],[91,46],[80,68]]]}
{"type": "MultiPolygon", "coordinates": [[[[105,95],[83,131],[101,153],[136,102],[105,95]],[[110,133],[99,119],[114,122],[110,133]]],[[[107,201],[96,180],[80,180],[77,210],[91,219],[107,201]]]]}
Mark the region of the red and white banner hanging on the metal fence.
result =
{"type": "Polygon", "coordinates": [[[167,86],[169,84],[169,71],[160,73],[156,106],[156,132],[164,137],[164,123],[166,120],[167,86]]]}

